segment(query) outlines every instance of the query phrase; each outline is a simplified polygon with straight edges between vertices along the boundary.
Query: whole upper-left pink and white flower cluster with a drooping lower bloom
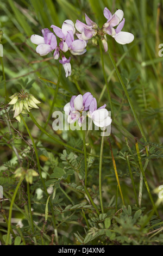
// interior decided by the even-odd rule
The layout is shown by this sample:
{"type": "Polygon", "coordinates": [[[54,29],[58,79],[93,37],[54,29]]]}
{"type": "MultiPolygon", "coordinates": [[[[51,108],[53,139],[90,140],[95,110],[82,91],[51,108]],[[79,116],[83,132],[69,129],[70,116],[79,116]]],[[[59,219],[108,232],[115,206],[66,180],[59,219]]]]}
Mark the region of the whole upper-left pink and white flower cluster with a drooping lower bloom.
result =
{"type": "Polygon", "coordinates": [[[66,77],[68,77],[71,75],[71,57],[67,59],[64,53],[69,50],[73,55],[84,54],[86,52],[86,41],[83,39],[74,39],[76,29],[71,20],[65,20],[61,28],[54,25],[52,25],[51,28],[53,28],[55,35],[60,38],[59,46],[56,36],[53,32],[49,31],[48,28],[42,29],[43,36],[32,35],[30,40],[33,44],[37,45],[36,52],[39,53],[40,56],[45,56],[55,50],[54,59],[59,59],[61,54],[62,59],[60,59],[59,62],[63,65],[66,77]]]}

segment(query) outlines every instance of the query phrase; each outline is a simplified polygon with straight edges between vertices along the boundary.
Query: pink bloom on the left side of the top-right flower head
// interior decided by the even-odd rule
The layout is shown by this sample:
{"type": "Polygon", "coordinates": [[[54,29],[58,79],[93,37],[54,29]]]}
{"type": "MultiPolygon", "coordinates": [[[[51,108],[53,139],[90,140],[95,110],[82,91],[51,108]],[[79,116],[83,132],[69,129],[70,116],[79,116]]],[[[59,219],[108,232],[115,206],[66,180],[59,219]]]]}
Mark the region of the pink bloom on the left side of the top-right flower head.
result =
{"type": "Polygon", "coordinates": [[[78,36],[79,39],[89,40],[97,34],[96,29],[98,28],[98,26],[86,14],[85,14],[85,21],[87,25],[79,20],[76,21],[76,25],[75,25],[76,29],[81,33],[81,34],[77,33],[76,35],[78,36]]]}

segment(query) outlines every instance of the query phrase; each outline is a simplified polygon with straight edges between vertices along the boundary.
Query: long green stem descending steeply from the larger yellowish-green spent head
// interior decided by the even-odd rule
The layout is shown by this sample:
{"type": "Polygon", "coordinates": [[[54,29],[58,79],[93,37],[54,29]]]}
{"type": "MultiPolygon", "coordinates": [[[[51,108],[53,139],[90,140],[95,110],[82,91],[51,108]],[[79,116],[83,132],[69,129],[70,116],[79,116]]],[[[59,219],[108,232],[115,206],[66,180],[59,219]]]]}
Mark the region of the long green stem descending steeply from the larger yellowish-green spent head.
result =
{"type": "MultiPolygon", "coordinates": [[[[47,188],[46,188],[46,185],[45,185],[45,181],[44,181],[43,178],[42,178],[39,155],[38,155],[38,152],[37,152],[37,148],[36,148],[34,139],[33,139],[32,134],[30,133],[30,131],[29,131],[29,129],[28,129],[28,126],[27,126],[26,122],[24,121],[24,118],[22,117],[21,114],[20,114],[20,117],[21,117],[21,119],[22,119],[22,121],[23,121],[23,124],[24,124],[24,126],[26,127],[26,130],[27,130],[27,132],[28,132],[28,135],[29,135],[29,137],[30,137],[30,139],[31,139],[31,141],[32,141],[32,143],[33,143],[33,147],[34,147],[34,151],[35,151],[35,155],[36,155],[36,160],[37,160],[37,167],[38,167],[38,170],[39,170],[41,182],[42,182],[43,188],[44,188],[44,190],[45,190],[46,196],[48,197],[49,194],[48,194],[48,192],[47,192],[47,188]]],[[[54,223],[54,231],[57,232],[56,223],[55,223],[55,215],[54,215],[54,210],[53,210],[53,205],[52,205],[51,199],[49,199],[49,204],[50,204],[51,210],[52,210],[52,217],[53,217],[53,223],[54,223]]],[[[58,236],[56,236],[55,238],[57,239],[58,236]]],[[[58,240],[57,240],[56,242],[58,243],[58,240]]]]}

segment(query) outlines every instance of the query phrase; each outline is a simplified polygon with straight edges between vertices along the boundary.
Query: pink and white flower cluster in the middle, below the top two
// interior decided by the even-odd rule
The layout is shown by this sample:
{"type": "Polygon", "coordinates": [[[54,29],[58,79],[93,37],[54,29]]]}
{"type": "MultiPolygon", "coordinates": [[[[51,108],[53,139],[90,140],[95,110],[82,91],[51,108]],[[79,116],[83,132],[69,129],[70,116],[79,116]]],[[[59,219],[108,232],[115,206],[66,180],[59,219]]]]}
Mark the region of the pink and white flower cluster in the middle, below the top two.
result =
{"type": "Polygon", "coordinates": [[[91,93],[85,93],[83,96],[72,96],[70,102],[68,102],[64,111],[67,115],[67,121],[69,124],[73,124],[78,121],[79,126],[85,119],[83,113],[87,111],[87,117],[93,120],[93,123],[98,127],[106,127],[111,124],[111,118],[109,112],[105,108],[106,105],[97,108],[97,101],[91,93]]]}

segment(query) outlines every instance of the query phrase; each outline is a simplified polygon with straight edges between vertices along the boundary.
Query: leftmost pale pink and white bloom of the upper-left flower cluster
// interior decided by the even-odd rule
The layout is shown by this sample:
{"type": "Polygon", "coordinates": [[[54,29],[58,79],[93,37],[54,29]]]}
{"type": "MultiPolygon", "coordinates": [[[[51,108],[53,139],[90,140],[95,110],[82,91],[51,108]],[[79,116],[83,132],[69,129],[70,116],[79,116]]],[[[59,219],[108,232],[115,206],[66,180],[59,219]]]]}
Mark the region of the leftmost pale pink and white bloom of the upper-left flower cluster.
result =
{"type": "Polygon", "coordinates": [[[48,28],[42,29],[42,35],[43,36],[32,35],[30,40],[33,44],[38,45],[36,47],[36,52],[39,53],[40,56],[45,56],[57,47],[57,39],[48,28]]]}

